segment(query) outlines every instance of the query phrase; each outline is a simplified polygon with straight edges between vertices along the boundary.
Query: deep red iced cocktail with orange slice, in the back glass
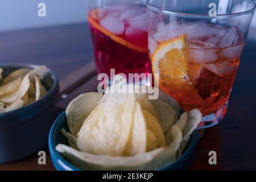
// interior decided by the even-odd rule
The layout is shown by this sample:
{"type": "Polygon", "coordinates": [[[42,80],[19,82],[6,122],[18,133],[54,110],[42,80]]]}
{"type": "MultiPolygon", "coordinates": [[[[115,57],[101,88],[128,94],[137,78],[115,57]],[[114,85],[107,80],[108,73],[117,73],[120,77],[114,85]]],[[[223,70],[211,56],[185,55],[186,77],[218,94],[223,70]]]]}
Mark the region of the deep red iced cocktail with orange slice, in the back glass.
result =
{"type": "Polygon", "coordinates": [[[146,7],[114,4],[88,15],[98,73],[151,73],[146,7]]]}

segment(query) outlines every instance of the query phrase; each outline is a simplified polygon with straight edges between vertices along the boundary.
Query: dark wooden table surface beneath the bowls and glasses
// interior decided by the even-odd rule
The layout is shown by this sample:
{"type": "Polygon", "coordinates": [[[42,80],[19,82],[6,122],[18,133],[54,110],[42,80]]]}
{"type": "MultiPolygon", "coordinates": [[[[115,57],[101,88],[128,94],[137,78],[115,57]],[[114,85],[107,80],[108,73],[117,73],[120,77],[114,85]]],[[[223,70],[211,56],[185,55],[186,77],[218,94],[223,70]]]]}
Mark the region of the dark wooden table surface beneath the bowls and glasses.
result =
{"type": "MultiPolygon", "coordinates": [[[[251,35],[256,30],[251,30],[251,35]]],[[[88,24],[2,32],[0,64],[44,64],[60,80],[93,60],[88,24]]],[[[256,40],[250,36],[242,55],[228,114],[217,126],[205,131],[199,140],[191,170],[256,169],[256,40]],[[208,163],[209,151],[217,152],[217,165],[208,163]]],[[[95,90],[96,78],[82,84],[71,97],[95,90]]],[[[47,147],[47,164],[38,164],[34,154],[18,162],[0,164],[0,170],[54,170],[47,147]]]]}

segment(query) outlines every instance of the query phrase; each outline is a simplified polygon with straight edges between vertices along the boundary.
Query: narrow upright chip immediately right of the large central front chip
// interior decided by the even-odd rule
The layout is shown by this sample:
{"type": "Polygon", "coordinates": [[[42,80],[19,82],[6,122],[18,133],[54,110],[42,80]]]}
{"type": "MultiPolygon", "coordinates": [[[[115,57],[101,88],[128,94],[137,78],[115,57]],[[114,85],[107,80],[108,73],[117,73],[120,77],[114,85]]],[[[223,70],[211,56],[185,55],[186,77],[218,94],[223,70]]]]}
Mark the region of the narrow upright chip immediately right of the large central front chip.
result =
{"type": "Polygon", "coordinates": [[[146,152],[147,126],[139,103],[134,111],[133,126],[123,156],[133,156],[146,152]]]}

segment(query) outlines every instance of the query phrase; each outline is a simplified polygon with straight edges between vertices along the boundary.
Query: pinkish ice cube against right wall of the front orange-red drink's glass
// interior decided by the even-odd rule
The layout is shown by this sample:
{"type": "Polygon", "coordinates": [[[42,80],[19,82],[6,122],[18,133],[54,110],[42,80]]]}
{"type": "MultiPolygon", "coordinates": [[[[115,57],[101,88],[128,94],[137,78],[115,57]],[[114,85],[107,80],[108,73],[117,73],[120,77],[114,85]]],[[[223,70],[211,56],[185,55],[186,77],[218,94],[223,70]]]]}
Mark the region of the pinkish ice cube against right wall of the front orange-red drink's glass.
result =
{"type": "Polygon", "coordinates": [[[238,57],[241,56],[243,52],[243,47],[245,47],[245,44],[240,44],[238,46],[233,46],[233,47],[228,47],[224,48],[221,51],[221,57],[226,57],[227,59],[237,59],[238,57]]]}

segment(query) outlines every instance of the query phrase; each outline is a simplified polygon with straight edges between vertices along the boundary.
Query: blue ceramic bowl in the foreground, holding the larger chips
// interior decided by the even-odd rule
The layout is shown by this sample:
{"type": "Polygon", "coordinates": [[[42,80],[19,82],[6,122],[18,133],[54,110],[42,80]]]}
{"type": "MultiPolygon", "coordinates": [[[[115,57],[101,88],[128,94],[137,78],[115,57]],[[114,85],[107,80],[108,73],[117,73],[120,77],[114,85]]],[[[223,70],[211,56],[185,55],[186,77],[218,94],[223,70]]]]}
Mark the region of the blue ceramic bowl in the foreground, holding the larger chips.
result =
{"type": "MultiPolygon", "coordinates": [[[[59,116],[59,118],[56,119],[49,133],[48,145],[52,163],[58,171],[81,171],[81,169],[73,166],[71,163],[68,162],[68,160],[64,159],[64,157],[55,150],[57,144],[60,143],[69,146],[67,138],[65,138],[64,135],[60,133],[61,129],[69,131],[65,112],[63,112],[59,116]]],[[[196,143],[197,133],[195,131],[192,134],[191,140],[189,140],[188,146],[184,154],[175,163],[172,163],[169,166],[163,168],[162,171],[176,171],[187,169],[193,162],[196,150],[196,143]]]]}

